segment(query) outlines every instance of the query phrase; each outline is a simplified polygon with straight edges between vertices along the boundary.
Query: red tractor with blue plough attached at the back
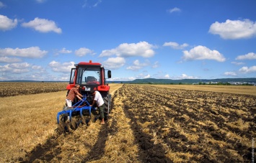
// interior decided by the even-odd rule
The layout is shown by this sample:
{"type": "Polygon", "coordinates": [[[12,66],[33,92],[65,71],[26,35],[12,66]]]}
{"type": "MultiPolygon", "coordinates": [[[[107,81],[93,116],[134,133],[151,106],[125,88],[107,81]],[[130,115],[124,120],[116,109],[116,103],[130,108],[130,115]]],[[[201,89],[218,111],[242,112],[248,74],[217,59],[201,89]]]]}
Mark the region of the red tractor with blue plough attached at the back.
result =
{"type": "MultiPolygon", "coordinates": [[[[107,78],[111,78],[111,71],[105,70],[104,66],[98,62],[79,62],[75,64],[75,68],[71,69],[71,75],[69,80],[69,85],[66,86],[68,90],[74,88],[76,84],[80,85],[79,93],[83,95],[81,101],[75,99],[74,105],[69,108],[63,108],[63,111],[57,114],[57,123],[61,127],[61,130],[66,129],[66,127],[71,126],[71,129],[76,129],[80,122],[88,124],[90,120],[93,121],[95,112],[97,113],[97,106],[89,106],[92,101],[92,90],[97,90],[102,95],[105,102],[105,120],[110,113],[111,109],[111,95],[109,93],[110,86],[106,82],[105,73],[107,73],[107,78]],[[86,117],[89,115],[89,119],[86,117]],[[74,117],[74,118],[73,118],[74,117]],[[76,121],[76,117],[79,117],[76,121]]],[[[94,118],[94,120],[96,120],[94,118]]]]}

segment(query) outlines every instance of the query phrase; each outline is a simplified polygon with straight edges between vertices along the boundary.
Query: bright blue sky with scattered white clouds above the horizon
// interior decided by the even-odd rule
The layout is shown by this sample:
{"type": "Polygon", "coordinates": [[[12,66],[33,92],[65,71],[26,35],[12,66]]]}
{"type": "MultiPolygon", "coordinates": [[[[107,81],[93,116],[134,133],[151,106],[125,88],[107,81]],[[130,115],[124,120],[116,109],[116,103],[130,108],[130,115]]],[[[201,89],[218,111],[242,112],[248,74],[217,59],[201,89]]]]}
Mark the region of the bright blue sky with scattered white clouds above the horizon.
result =
{"type": "Polygon", "coordinates": [[[255,0],[0,0],[0,80],[256,78],[255,0]]]}

